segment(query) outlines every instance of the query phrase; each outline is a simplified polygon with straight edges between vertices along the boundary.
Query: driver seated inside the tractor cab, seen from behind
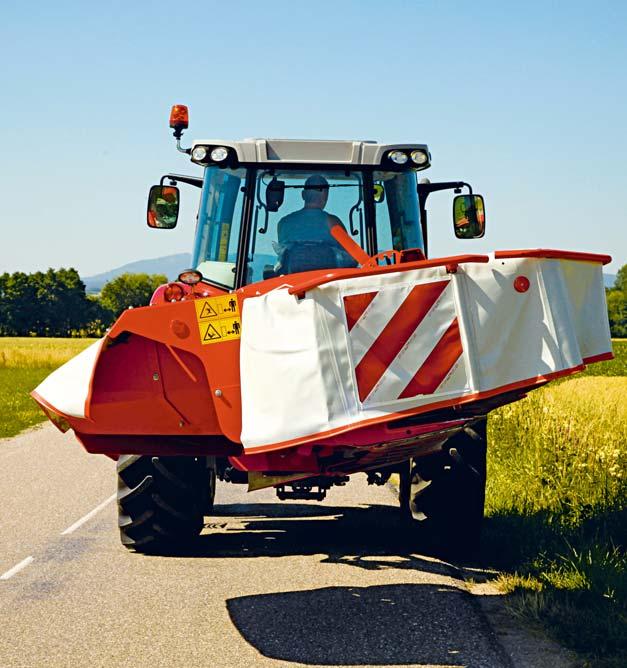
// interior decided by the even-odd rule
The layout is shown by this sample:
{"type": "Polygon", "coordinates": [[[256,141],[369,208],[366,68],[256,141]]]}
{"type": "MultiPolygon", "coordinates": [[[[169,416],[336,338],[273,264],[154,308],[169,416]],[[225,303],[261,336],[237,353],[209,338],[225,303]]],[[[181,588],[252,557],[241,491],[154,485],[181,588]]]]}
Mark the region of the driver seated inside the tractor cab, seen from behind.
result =
{"type": "MultiPolygon", "coordinates": [[[[313,174],[305,181],[301,195],[304,201],[303,208],[287,214],[279,221],[277,229],[279,244],[290,248],[302,242],[319,242],[321,246],[324,245],[327,249],[326,257],[322,249],[319,257],[316,257],[316,250],[310,248],[305,264],[319,266],[305,268],[303,260],[296,262],[297,253],[292,252],[292,262],[288,263],[292,266],[289,269],[284,266],[284,269],[292,273],[314,268],[330,269],[333,267],[356,266],[353,258],[331,235],[331,228],[335,225],[340,225],[343,230],[346,228],[337,216],[324,210],[329,199],[329,182],[324,176],[313,174]],[[295,262],[298,266],[294,266],[295,262]]],[[[285,265],[285,262],[282,261],[281,264],[285,265]]]]}

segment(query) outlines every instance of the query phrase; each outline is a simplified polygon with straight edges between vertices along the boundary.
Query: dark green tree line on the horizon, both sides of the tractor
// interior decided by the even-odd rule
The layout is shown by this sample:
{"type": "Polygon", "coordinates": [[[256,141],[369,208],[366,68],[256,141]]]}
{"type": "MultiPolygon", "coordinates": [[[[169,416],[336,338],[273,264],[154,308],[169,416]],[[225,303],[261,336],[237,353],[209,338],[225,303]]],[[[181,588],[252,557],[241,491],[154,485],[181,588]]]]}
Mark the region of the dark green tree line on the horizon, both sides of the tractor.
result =
{"type": "MultiPolygon", "coordinates": [[[[76,269],[0,274],[0,336],[102,336],[129,306],[145,306],[163,274],[122,274],[88,295],[76,269]]],[[[612,336],[627,338],[627,264],[606,290],[612,336]]]]}

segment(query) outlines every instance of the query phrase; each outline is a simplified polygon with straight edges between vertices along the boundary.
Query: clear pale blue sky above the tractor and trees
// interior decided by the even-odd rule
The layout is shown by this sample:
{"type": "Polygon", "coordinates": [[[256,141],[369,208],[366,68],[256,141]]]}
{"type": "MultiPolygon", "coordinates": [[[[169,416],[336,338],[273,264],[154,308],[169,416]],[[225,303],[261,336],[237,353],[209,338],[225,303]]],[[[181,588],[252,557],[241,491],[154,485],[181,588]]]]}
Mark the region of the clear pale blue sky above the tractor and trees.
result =
{"type": "Polygon", "coordinates": [[[198,167],[193,138],[427,143],[432,181],[486,198],[457,241],[430,198],[431,254],[564,248],[627,262],[627,2],[30,2],[3,8],[0,272],[87,276],[189,251],[148,188],[198,167]]]}

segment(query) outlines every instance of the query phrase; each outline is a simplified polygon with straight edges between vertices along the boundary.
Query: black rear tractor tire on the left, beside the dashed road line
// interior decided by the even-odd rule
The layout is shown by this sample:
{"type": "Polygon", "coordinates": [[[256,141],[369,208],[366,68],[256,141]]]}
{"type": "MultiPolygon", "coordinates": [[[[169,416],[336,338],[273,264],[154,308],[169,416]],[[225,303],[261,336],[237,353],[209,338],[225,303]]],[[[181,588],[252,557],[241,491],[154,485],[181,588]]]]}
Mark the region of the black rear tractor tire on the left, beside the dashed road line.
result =
{"type": "Polygon", "coordinates": [[[172,553],[202,531],[215,495],[213,459],[121,455],[117,473],[118,526],[124,547],[172,553]]]}

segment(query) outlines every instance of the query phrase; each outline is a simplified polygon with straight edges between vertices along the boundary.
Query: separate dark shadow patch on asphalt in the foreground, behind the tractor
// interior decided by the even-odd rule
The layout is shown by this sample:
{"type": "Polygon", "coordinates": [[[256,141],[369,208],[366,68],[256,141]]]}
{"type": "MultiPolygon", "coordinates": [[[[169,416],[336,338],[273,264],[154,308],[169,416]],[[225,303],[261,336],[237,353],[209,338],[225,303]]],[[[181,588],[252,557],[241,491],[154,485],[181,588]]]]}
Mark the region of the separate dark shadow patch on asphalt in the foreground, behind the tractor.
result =
{"type": "Polygon", "coordinates": [[[308,665],[509,665],[472,598],[454,587],[327,587],[232,598],[227,608],[245,640],[272,659],[308,665]]]}

